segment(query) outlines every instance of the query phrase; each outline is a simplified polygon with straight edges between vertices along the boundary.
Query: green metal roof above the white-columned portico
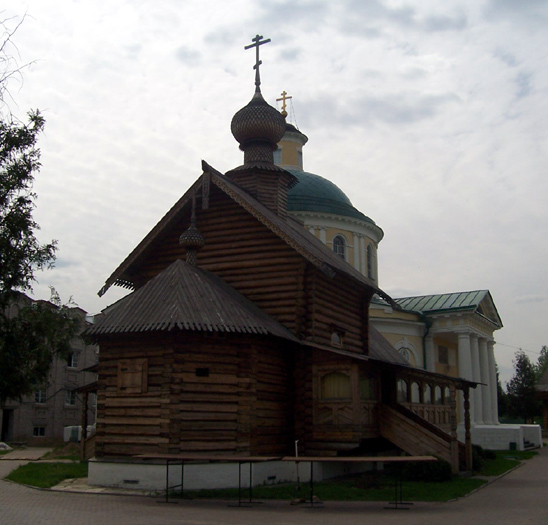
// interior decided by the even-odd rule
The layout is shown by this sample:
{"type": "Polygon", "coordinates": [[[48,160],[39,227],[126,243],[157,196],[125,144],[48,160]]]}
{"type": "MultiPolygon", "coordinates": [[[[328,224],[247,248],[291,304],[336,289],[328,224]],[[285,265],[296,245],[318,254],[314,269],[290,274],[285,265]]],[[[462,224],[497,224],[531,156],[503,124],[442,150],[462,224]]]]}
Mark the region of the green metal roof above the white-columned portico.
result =
{"type": "Polygon", "coordinates": [[[403,310],[422,314],[474,312],[502,328],[502,320],[489,290],[402,297],[395,301],[403,310]]]}

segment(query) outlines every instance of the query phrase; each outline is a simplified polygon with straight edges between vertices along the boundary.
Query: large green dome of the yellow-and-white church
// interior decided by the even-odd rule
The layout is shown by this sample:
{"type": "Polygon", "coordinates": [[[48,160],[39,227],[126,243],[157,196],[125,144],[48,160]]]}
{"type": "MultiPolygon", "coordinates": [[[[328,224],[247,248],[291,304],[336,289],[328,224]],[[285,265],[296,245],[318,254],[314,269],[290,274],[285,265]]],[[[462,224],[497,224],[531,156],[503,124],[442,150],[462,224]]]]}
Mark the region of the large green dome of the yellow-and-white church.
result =
{"type": "Polygon", "coordinates": [[[295,184],[288,192],[288,211],[331,213],[375,224],[375,221],[354,208],[350,199],[331,181],[307,171],[286,169],[299,179],[298,184],[295,184]]]}

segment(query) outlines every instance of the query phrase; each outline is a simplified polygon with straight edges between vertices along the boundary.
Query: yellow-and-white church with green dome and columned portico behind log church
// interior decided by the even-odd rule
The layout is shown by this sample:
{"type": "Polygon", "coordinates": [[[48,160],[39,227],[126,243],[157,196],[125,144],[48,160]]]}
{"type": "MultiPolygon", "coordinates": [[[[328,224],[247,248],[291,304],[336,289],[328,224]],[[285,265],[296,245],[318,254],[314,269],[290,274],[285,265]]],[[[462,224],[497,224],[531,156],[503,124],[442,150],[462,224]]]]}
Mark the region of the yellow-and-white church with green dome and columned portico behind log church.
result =
{"type": "MultiPolygon", "coordinates": [[[[282,94],[285,112],[285,97],[282,94]]],[[[303,146],[308,137],[292,124],[274,152],[276,164],[299,179],[288,195],[288,212],[340,257],[379,285],[377,252],[384,232],[352,206],[346,194],[329,180],[304,171],[303,146]]],[[[502,321],[489,290],[453,292],[395,299],[396,309],[373,300],[370,323],[414,367],[478,383],[471,391],[472,442],[491,450],[523,450],[541,446],[538,425],[502,425],[498,419],[494,332],[502,321]]],[[[399,402],[435,406],[435,393],[417,383],[400,381],[399,402]]],[[[464,422],[459,410],[459,439],[464,422]]],[[[424,409],[422,409],[424,410],[424,409]]],[[[420,414],[424,415],[424,414],[420,414]]]]}

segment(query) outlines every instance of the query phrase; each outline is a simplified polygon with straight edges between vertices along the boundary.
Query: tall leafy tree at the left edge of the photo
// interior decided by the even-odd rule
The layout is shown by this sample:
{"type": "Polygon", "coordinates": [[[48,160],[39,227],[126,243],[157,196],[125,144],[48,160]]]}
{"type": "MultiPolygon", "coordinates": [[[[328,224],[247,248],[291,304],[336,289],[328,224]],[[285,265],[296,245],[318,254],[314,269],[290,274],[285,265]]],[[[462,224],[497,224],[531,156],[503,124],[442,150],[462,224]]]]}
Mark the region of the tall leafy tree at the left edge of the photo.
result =
{"type": "MultiPolygon", "coordinates": [[[[5,50],[12,35],[0,44],[1,101],[10,78],[5,50]]],[[[35,272],[55,261],[55,241],[38,242],[39,226],[32,216],[34,175],[40,168],[36,144],[43,128],[38,111],[29,113],[28,123],[0,115],[0,405],[45,382],[53,357],[68,352],[78,330],[78,320],[55,293],[52,302],[22,301],[21,292],[32,290],[35,272]]]]}

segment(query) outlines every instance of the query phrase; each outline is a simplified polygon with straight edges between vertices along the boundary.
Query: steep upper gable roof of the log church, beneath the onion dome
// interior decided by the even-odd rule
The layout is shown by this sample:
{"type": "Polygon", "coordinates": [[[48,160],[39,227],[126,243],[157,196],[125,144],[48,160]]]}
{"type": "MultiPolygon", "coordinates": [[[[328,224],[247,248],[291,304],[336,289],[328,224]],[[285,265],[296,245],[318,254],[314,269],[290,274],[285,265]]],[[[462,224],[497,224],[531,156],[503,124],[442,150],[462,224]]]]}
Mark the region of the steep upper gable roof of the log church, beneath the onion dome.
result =
{"type": "Polygon", "coordinates": [[[177,203],[175,203],[171,210],[164,215],[148,235],[106,280],[105,285],[99,291],[100,296],[113,284],[130,289],[134,288],[131,278],[131,269],[146,256],[147,249],[158,236],[164,232],[181,213],[183,213],[186,206],[190,205],[192,195],[203,188],[204,180],[206,179],[206,186],[208,183],[215,185],[305,259],[314,266],[320,268],[324,273],[331,277],[334,277],[337,273],[347,275],[360,285],[370,288],[390,304],[394,305],[393,299],[388,294],[383,292],[367,277],[330,250],[304,228],[300,222],[291,217],[278,216],[228,177],[209,166],[205,161],[202,161],[202,169],[204,171],[202,176],[198,178],[190,189],[177,201],[177,203]]]}

